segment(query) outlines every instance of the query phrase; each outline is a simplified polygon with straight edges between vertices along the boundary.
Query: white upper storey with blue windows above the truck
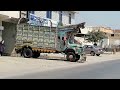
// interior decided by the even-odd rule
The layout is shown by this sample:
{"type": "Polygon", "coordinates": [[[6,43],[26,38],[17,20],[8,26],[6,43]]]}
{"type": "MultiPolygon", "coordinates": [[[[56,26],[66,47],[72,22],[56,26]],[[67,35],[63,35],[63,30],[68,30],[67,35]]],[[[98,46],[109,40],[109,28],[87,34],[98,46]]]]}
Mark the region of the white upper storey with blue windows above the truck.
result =
{"type": "Polygon", "coordinates": [[[32,14],[62,22],[64,25],[75,24],[75,11],[33,11],[32,14]]]}

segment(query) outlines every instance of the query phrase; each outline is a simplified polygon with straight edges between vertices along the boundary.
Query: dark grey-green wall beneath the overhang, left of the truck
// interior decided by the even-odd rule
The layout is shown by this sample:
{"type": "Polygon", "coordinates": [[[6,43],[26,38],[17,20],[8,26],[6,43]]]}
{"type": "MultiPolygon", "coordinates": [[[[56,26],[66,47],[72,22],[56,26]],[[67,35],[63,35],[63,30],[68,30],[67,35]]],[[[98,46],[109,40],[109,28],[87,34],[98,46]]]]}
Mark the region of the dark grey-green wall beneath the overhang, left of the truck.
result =
{"type": "Polygon", "coordinates": [[[2,24],[4,26],[2,37],[5,41],[5,53],[10,55],[15,46],[16,25],[8,22],[2,24]]]}

